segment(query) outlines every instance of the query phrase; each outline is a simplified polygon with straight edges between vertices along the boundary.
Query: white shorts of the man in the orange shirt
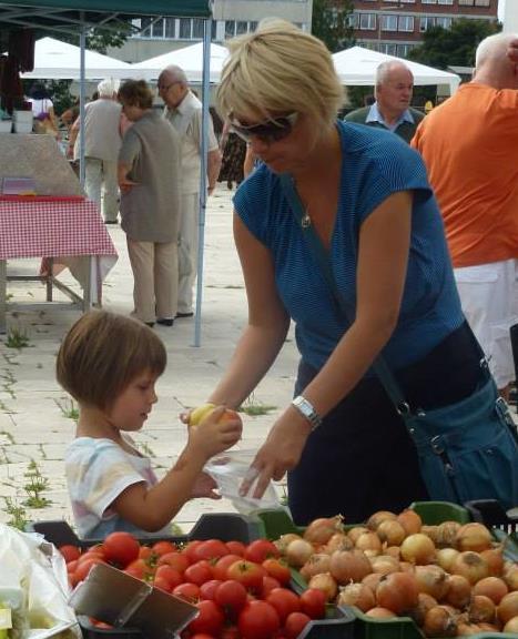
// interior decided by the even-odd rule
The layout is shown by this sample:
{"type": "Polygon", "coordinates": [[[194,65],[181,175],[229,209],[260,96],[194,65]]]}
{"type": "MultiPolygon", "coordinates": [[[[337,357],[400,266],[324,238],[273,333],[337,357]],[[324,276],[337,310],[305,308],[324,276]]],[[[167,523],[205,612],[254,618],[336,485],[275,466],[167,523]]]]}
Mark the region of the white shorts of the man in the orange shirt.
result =
{"type": "Polygon", "coordinates": [[[518,322],[518,260],[455,268],[464,314],[498,388],[515,379],[509,328],[518,322]]]}

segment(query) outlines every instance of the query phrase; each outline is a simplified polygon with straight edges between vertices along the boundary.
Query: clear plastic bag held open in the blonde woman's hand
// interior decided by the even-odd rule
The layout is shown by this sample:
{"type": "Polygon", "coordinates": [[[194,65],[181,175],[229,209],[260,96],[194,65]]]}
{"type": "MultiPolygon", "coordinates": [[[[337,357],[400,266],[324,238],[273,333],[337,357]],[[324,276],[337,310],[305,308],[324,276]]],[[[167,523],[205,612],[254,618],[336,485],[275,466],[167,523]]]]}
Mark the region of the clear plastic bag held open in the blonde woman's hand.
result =
{"type": "Polygon", "coordinates": [[[272,481],[261,499],[251,497],[254,493],[255,480],[246,496],[240,495],[241,484],[248,475],[254,457],[254,450],[232,450],[212,457],[204,468],[205,473],[217,483],[220,494],[230,499],[242,515],[248,515],[260,508],[282,508],[272,481]]]}

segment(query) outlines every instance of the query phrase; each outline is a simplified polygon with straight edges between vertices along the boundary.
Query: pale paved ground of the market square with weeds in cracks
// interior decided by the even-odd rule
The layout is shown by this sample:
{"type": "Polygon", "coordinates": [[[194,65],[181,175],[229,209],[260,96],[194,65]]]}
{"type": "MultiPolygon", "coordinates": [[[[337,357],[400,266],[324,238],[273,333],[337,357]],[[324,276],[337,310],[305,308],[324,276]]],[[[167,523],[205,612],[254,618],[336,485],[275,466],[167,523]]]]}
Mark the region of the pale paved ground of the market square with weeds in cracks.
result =
{"type": "MultiPolygon", "coordinates": [[[[174,462],[185,443],[184,426],[177,419],[185,407],[203,403],[222,375],[241,329],[246,322],[246,300],[238,260],[232,240],[232,193],[220,185],[210,199],[205,231],[204,292],[201,346],[194,347],[194,321],[176,321],[174,327],[158,327],[167,347],[169,367],[158,385],[159,403],[145,429],[138,434],[143,450],[153,457],[159,474],[174,462]]],[[[103,305],[129,314],[132,310],[132,274],[125,251],[125,235],[109,226],[119,261],[106,277],[103,305]]],[[[10,261],[8,273],[35,273],[39,261],[10,261]]],[[[64,282],[73,282],[70,274],[64,282]]],[[[80,316],[73,307],[40,306],[39,283],[11,282],[8,333],[0,336],[0,521],[27,519],[71,520],[63,473],[63,454],[74,433],[74,405],[54,379],[54,361],[61,338],[80,316]],[[24,306],[26,304],[26,306],[24,306]],[[8,345],[9,337],[27,335],[23,348],[8,345]],[[34,488],[31,488],[35,486],[34,488]],[[38,489],[40,487],[41,489],[38,489]],[[49,500],[32,508],[29,498],[49,500]]],[[[65,301],[61,294],[57,300],[65,301]]],[[[274,416],[290,399],[296,369],[291,338],[250,405],[273,407],[266,415],[244,416],[244,436],[238,448],[256,449],[274,416]]],[[[282,494],[284,488],[278,486],[282,494]]],[[[233,510],[223,499],[190,501],[175,518],[189,530],[201,513],[233,510]]]]}

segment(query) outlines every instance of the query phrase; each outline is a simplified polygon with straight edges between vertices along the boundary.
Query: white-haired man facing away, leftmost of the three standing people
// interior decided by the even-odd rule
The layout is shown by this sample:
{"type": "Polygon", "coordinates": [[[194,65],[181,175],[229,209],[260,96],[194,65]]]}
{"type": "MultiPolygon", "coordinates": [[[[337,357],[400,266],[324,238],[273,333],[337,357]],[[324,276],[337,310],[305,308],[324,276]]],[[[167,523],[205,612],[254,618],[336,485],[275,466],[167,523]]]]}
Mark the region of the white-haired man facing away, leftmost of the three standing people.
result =
{"type": "MultiPolygon", "coordinates": [[[[84,190],[101,209],[106,224],[116,224],[119,186],[116,160],[121,148],[121,105],[116,101],[119,81],[98,84],[99,98],[84,108],[84,190]]],[[[79,159],[79,118],[70,130],[68,156],[79,159]]]]}

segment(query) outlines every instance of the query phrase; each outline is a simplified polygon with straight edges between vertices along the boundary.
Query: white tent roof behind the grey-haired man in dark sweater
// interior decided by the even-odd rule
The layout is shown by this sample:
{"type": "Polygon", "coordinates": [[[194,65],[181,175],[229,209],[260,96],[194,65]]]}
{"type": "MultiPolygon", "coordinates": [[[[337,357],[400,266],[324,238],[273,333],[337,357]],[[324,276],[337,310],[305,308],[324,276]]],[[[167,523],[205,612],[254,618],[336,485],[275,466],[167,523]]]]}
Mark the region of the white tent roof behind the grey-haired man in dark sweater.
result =
{"type": "Polygon", "coordinates": [[[456,73],[448,71],[440,71],[433,67],[418,64],[410,60],[396,58],[364,49],[363,47],[352,47],[344,49],[333,54],[336,72],[338,73],[342,82],[349,85],[374,87],[376,69],[382,62],[388,60],[399,60],[404,62],[414,74],[414,84],[448,84],[450,94],[457,91],[460,83],[460,78],[456,73]]]}

